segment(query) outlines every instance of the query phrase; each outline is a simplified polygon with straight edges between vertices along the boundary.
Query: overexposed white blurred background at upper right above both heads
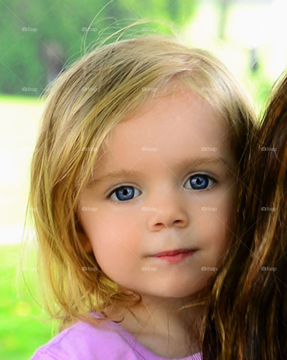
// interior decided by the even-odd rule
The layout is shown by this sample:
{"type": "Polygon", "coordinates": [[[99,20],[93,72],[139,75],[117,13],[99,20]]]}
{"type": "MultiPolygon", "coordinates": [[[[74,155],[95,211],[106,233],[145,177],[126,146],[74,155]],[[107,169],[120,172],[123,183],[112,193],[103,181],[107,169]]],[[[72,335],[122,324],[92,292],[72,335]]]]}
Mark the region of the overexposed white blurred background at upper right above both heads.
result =
{"type": "Polygon", "coordinates": [[[190,45],[213,51],[254,99],[264,94],[246,72],[252,51],[270,86],[287,68],[286,14],[286,0],[203,0],[184,36],[190,45]]]}

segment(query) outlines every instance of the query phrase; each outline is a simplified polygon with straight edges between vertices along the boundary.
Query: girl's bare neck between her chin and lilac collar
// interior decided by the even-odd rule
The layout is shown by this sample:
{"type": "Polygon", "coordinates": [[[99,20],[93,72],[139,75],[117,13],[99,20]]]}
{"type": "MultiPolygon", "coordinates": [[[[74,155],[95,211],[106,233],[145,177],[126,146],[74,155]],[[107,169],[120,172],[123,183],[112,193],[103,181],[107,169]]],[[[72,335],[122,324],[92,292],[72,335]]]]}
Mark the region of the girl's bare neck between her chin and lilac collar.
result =
{"type": "MultiPolygon", "coordinates": [[[[205,314],[205,306],[197,305],[177,311],[179,308],[199,302],[204,294],[192,294],[185,298],[161,298],[142,295],[143,302],[129,309],[105,311],[129,333],[137,336],[152,335],[162,339],[173,339],[182,343],[186,336],[192,346],[201,350],[199,329],[205,314]],[[133,315],[133,314],[135,315],[133,315]],[[136,318],[135,318],[136,317],[136,318]]],[[[197,352],[198,352],[197,351],[197,352]]]]}

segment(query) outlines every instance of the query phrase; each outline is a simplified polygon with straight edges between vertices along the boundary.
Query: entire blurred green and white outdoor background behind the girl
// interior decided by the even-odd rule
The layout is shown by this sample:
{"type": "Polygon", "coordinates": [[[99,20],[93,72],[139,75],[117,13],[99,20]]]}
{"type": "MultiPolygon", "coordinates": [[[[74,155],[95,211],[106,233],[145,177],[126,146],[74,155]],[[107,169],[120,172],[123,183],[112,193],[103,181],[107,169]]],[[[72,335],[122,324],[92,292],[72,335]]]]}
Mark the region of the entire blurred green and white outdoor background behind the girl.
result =
{"type": "Polygon", "coordinates": [[[227,64],[260,114],[273,82],[287,67],[287,2],[0,0],[0,9],[0,359],[25,360],[57,330],[33,300],[37,249],[33,232],[23,232],[30,159],[47,84],[89,44],[152,17],[160,23],[138,24],[132,31],[170,33],[163,23],[174,24],[188,45],[211,50],[227,64]],[[27,242],[20,248],[22,239],[27,242]],[[23,251],[28,260],[22,269],[23,251]]]}

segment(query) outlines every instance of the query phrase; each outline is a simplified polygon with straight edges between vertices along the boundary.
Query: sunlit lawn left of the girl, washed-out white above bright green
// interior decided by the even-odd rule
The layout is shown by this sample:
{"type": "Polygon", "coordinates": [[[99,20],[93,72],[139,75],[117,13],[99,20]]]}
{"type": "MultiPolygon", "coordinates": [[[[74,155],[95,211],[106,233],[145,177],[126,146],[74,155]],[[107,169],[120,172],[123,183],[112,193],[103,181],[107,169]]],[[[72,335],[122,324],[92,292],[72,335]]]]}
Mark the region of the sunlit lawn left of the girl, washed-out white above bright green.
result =
{"type": "MultiPolygon", "coordinates": [[[[35,97],[0,96],[0,118],[6,120],[0,134],[0,160],[6,169],[0,179],[0,360],[28,360],[52,337],[53,324],[41,322],[47,316],[41,315],[22,276],[17,282],[21,240],[18,227],[24,224],[29,162],[43,107],[44,102],[35,97]]],[[[32,293],[37,290],[36,275],[35,271],[25,271],[32,293]]]]}

